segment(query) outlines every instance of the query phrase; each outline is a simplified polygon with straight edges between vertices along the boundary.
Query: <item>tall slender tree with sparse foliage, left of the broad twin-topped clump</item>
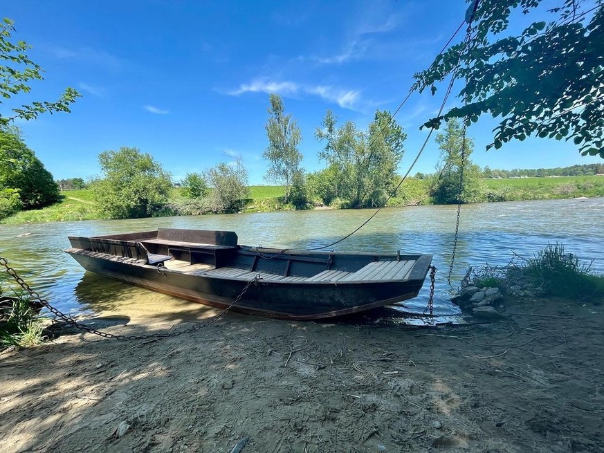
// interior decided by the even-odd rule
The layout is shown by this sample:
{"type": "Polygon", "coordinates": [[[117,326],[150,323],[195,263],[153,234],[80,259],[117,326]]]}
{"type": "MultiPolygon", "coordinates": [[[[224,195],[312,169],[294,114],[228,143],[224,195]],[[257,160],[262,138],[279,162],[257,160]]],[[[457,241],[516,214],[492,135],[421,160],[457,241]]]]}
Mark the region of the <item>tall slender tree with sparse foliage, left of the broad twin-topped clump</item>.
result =
{"type": "Polygon", "coordinates": [[[264,178],[284,185],[287,201],[294,179],[302,177],[302,153],[298,150],[301,140],[300,128],[291,115],[284,115],[283,101],[279,95],[271,94],[269,101],[271,107],[268,108],[265,126],[268,147],[262,154],[269,161],[269,167],[264,178]]]}

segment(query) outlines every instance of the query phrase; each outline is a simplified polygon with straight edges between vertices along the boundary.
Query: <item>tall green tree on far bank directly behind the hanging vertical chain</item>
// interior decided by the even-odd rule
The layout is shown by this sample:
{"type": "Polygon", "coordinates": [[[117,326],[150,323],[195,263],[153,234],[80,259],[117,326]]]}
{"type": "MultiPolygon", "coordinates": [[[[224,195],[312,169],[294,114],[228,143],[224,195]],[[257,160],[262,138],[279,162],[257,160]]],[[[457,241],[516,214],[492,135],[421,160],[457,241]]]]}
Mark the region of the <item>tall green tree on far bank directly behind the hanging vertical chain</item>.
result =
{"type": "Polygon", "coordinates": [[[480,167],[470,162],[474,143],[472,139],[465,138],[465,158],[462,158],[463,135],[459,121],[455,119],[448,120],[445,131],[437,134],[436,142],[441,150],[441,158],[430,190],[432,198],[437,204],[458,203],[462,165],[464,167],[464,186],[461,190],[461,202],[482,201],[484,186],[480,180],[480,167]]]}

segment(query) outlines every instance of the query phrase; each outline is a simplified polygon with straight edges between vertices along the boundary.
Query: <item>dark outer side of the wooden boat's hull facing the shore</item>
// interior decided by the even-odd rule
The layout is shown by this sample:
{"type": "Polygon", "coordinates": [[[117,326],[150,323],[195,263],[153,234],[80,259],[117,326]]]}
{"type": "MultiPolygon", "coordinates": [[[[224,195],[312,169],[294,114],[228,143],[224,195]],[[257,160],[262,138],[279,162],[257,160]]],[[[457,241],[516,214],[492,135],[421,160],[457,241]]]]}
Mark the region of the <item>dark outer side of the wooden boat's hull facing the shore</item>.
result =
{"type": "MultiPolygon", "coordinates": [[[[190,275],[143,264],[134,258],[116,261],[102,253],[66,250],[84,269],[99,275],[182,297],[217,308],[227,308],[247,281],[190,275]]],[[[417,278],[405,281],[280,282],[255,281],[232,310],[289,320],[318,320],[366,311],[416,297],[430,261],[417,278]],[[424,269],[425,268],[425,269],[424,269]]]]}

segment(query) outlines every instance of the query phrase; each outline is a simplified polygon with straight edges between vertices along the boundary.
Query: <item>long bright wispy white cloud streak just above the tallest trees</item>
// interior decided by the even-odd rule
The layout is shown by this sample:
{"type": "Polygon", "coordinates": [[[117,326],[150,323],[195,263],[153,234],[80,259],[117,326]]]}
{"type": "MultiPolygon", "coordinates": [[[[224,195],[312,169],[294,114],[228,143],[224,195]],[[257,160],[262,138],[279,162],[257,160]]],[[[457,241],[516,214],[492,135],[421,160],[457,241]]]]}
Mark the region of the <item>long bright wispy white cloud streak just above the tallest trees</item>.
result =
{"type": "Polygon", "coordinates": [[[238,89],[229,91],[229,95],[237,96],[244,93],[275,93],[284,96],[317,95],[320,98],[338,104],[343,109],[360,109],[360,91],[347,90],[329,85],[300,84],[298,82],[277,82],[259,77],[248,84],[241,84],[238,89]]]}

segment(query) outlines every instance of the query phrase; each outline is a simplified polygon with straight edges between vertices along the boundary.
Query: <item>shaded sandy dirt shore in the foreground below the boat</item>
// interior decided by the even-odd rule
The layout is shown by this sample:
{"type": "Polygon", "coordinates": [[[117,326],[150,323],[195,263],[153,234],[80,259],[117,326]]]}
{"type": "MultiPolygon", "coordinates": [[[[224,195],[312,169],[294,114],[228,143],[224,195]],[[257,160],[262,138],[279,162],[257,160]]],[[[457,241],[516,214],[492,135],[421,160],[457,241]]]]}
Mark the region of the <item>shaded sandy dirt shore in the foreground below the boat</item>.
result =
{"type": "MultiPolygon", "coordinates": [[[[228,313],[161,340],[70,333],[0,354],[0,451],[231,452],[245,437],[242,453],[604,451],[602,308],[510,302],[502,322],[439,329],[228,313]]],[[[167,329],[140,325],[107,331],[167,329]]]]}

